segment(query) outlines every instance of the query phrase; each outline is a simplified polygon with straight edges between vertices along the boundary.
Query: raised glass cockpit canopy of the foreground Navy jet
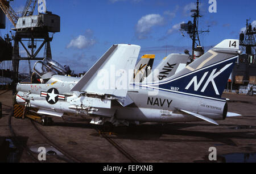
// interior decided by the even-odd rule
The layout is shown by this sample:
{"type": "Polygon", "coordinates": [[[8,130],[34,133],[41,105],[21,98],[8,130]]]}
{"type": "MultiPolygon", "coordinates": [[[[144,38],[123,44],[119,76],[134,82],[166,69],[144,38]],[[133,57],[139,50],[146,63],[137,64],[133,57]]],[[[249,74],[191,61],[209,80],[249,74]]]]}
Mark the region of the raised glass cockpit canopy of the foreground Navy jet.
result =
{"type": "Polygon", "coordinates": [[[54,74],[65,75],[67,71],[57,61],[51,59],[44,59],[37,61],[33,70],[43,79],[51,78],[54,74]]]}

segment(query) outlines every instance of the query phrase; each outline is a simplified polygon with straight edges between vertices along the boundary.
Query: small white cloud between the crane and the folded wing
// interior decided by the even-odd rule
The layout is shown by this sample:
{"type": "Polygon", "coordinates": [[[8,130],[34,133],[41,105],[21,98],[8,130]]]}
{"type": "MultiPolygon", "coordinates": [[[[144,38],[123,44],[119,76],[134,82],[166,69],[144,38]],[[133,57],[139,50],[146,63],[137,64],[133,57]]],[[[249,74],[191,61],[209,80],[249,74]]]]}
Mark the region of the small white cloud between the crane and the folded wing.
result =
{"type": "Polygon", "coordinates": [[[77,38],[72,39],[67,48],[84,49],[88,48],[96,43],[96,40],[85,38],[83,35],[79,35],[77,38]]]}

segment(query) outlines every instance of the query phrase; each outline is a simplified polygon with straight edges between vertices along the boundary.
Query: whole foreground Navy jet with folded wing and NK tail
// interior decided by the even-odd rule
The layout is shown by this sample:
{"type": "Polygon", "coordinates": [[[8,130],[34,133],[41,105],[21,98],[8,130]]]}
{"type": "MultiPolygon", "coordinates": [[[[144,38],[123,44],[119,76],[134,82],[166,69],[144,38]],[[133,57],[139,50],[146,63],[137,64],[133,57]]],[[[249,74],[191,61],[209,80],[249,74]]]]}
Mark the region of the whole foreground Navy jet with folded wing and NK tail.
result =
{"type": "Polygon", "coordinates": [[[115,44],[82,78],[64,76],[65,69],[53,60],[38,61],[34,71],[41,83],[18,83],[16,102],[37,108],[38,114],[84,115],[93,124],[115,126],[194,121],[218,125],[216,120],[239,115],[229,113],[221,98],[240,54],[239,40],[224,40],[173,76],[149,83],[131,80],[140,49],[115,44]]]}

